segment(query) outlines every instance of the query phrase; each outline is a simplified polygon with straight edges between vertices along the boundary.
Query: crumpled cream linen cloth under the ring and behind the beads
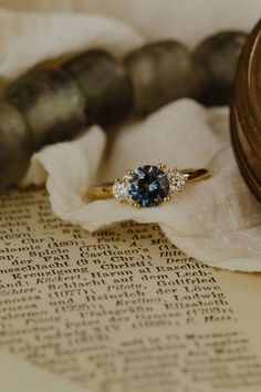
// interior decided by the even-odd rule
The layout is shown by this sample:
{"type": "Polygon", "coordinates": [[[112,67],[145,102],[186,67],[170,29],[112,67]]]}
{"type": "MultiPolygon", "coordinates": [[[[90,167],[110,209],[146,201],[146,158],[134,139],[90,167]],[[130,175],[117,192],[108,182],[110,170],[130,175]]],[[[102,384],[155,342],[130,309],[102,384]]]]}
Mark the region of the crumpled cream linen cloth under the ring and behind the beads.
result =
{"type": "MultiPolygon", "coordinates": [[[[149,7],[156,3],[154,0],[149,7]]],[[[180,1],[165,3],[179,3],[181,14],[180,1]]],[[[203,4],[207,7],[209,2],[198,0],[189,11],[184,9],[188,19],[184,39],[188,44],[191,42],[187,29],[190,29],[191,37],[195,30],[202,38],[220,30],[221,23],[225,28],[223,21],[220,23],[217,18],[217,6],[212,14],[211,8],[207,7],[208,14],[203,19],[208,20],[207,24],[201,25],[200,18],[195,19],[198,8],[203,4]]],[[[231,8],[237,6],[239,10],[237,21],[232,19],[234,12],[231,13],[231,28],[241,29],[243,25],[249,30],[261,13],[258,1],[237,1],[234,4],[230,0],[226,1],[226,18],[229,4],[231,8]]],[[[220,1],[220,7],[223,6],[225,2],[220,1]]],[[[138,2],[134,1],[133,7],[137,8],[138,2]]],[[[102,1],[98,1],[101,10],[102,1]]],[[[152,9],[150,13],[154,14],[152,9]]],[[[165,16],[169,18],[169,12],[165,16]]],[[[174,23],[178,17],[173,14],[174,23]]],[[[159,16],[161,22],[163,19],[164,13],[159,16]]],[[[147,24],[148,30],[152,29],[149,20],[147,24]]],[[[77,12],[1,11],[0,27],[0,41],[3,43],[0,47],[0,76],[4,80],[17,76],[43,59],[63,53],[98,45],[121,56],[149,40],[149,33],[146,37],[130,23],[77,12]],[[22,48],[27,48],[27,55],[21,52],[22,48]]],[[[229,23],[226,27],[229,28],[229,23]]],[[[164,28],[166,24],[163,23],[164,28]]],[[[156,29],[158,31],[159,25],[156,29]]],[[[180,29],[179,39],[182,38],[180,29]]],[[[170,30],[168,37],[175,38],[170,30]]],[[[167,37],[166,30],[163,35],[167,37]]],[[[158,37],[161,38],[160,34],[158,37]]],[[[84,229],[96,230],[127,219],[158,223],[171,243],[196,259],[231,270],[261,270],[261,205],[244,185],[234,162],[228,107],[207,110],[192,100],[184,99],[140,122],[125,124],[114,132],[113,137],[93,126],[77,140],[48,146],[33,156],[22,185],[44,182],[54,213],[84,229]],[[111,143],[109,138],[113,140],[111,143]],[[155,208],[135,209],[115,199],[86,200],[90,186],[121,177],[126,167],[147,163],[166,163],[180,168],[208,167],[212,176],[187,185],[186,190],[173,202],[155,208]]]]}

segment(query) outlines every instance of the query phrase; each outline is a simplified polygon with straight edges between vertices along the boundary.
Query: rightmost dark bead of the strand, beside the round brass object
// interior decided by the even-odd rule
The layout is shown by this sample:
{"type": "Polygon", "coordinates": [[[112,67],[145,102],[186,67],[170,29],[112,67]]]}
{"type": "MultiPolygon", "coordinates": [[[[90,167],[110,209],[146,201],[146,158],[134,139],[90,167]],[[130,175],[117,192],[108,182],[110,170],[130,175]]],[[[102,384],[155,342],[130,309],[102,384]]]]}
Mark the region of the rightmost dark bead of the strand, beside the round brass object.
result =
{"type": "Polygon", "coordinates": [[[206,105],[230,103],[240,52],[247,34],[240,31],[221,32],[202,41],[195,50],[200,94],[206,105]]]}

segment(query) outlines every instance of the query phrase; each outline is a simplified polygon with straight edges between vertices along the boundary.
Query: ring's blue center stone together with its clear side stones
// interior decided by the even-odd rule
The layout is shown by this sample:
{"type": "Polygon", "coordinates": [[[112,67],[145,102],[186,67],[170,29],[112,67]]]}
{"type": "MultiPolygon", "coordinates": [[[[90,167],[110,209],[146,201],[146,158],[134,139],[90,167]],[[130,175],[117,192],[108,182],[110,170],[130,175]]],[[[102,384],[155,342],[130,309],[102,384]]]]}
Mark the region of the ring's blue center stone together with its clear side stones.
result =
{"type": "Polygon", "coordinates": [[[135,207],[153,207],[181,192],[187,179],[188,174],[177,168],[144,165],[116,179],[112,193],[118,202],[127,202],[135,207]]]}

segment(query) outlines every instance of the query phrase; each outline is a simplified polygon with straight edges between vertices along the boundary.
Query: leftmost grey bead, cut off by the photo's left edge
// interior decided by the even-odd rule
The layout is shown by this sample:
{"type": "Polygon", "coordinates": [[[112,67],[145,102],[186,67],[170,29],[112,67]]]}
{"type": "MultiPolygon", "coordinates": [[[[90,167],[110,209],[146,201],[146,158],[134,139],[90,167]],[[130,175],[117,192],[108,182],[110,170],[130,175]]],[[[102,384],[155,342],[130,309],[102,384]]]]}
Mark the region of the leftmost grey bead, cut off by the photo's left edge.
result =
{"type": "Polygon", "coordinates": [[[32,134],[18,110],[0,103],[0,188],[18,183],[32,155],[32,134]]]}

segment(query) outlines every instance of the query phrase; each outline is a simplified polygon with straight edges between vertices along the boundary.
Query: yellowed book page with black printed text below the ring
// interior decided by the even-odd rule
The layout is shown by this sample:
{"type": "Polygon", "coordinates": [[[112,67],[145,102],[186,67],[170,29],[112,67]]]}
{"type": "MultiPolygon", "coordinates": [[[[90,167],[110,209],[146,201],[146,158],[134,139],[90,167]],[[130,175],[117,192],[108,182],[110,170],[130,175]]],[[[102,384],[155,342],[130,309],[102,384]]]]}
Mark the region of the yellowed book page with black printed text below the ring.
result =
{"type": "Polygon", "coordinates": [[[41,189],[2,195],[0,219],[1,354],[92,392],[261,390],[260,275],[189,258],[157,225],[90,234],[41,189]]]}

